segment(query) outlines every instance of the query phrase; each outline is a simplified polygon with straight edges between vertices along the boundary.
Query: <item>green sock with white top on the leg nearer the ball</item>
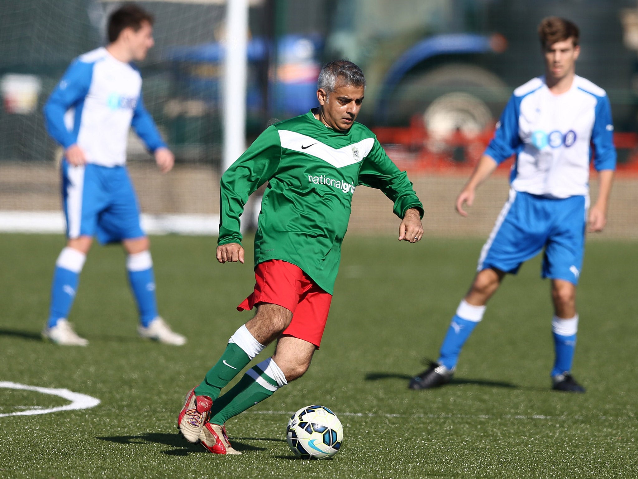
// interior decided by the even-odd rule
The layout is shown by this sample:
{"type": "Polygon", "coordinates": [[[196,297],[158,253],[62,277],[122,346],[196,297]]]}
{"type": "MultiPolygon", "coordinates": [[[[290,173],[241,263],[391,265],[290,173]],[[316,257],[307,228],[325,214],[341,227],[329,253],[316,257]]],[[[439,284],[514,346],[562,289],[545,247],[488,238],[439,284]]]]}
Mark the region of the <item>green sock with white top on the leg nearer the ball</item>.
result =
{"type": "Polygon", "coordinates": [[[233,416],[268,399],[281,387],[260,367],[263,368],[263,363],[246,371],[239,383],[212,404],[210,422],[222,425],[233,416]]]}

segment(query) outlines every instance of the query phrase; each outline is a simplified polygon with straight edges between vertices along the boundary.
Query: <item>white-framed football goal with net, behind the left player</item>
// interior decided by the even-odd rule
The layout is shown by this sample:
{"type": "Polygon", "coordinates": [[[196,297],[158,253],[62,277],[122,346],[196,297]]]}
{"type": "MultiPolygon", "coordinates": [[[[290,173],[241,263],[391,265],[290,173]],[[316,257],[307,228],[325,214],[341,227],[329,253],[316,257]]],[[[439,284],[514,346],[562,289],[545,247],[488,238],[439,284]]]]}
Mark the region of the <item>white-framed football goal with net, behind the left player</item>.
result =
{"type": "MultiPolygon", "coordinates": [[[[33,33],[42,48],[57,45],[52,40],[56,29],[45,21],[46,14],[37,17],[39,24],[29,24],[33,17],[24,13],[27,7],[22,7],[22,1],[10,0],[5,12],[8,17],[0,24],[10,32],[33,33]]],[[[80,0],[73,1],[77,1],[78,9],[84,5],[80,0]]],[[[263,0],[133,1],[147,6],[156,17],[156,46],[147,59],[150,73],[144,80],[145,103],[165,139],[172,141],[175,150],[186,158],[181,168],[159,176],[152,163],[145,161],[147,153],[142,144],[133,141],[129,145],[131,177],[145,211],[142,225],[149,234],[217,234],[219,215],[213,205],[217,203],[219,173],[246,148],[249,8],[262,6],[263,0]],[[213,52],[221,47],[218,57],[188,56],[193,51],[206,53],[209,43],[213,52]],[[179,49],[187,52],[183,54],[185,59],[174,60],[172,51],[179,49]],[[160,195],[160,190],[171,193],[160,195]]],[[[36,60],[45,68],[61,68],[57,63],[68,65],[66,56],[70,60],[104,42],[108,15],[123,3],[124,0],[89,3],[86,10],[81,10],[83,15],[69,17],[74,22],[72,29],[78,33],[70,36],[68,51],[58,55],[61,59],[47,58],[37,50],[40,57],[36,60]]],[[[56,0],[45,0],[42,5],[43,11],[54,10],[56,0]]],[[[59,14],[66,18],[64,15],[69,13],[59,14]]],[[[2,39],[7,48],[11,45],[8,38],[2,39]]],[[[3,61],[11,65],[17,60],[10,57],[3,61]]],[[[0,149],[4,155],[0,160],[6,160],[0,165],[0,231],[64,231],[64,217],[59,211],[59,173],[54,162],[48,161],[52,141],[47,139],[40,113],[45,95],[61,72],[50,73],[36,67],[40,70],[29,77],[0,75],[1,96],[5,100],[21,99],[7,100],[6,111],[0,109],[0,149]],[[27,91],[26,87],[30,89],[27,91]],[[27,148],[31,149],[26,151],[27,148]]]]}

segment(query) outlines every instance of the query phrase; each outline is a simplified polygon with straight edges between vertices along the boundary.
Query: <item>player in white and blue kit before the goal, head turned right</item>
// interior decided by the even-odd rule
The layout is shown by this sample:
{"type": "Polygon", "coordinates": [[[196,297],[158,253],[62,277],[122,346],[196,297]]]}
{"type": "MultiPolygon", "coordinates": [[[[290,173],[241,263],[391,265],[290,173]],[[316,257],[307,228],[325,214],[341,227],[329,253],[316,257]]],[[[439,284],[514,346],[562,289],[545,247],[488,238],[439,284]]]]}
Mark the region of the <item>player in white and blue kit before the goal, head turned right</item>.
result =
{"type": "Polygon", "coordinates": [[[152,17],[128,4],[108,22],[109,44],[84,54],[69,66],[44,107],[47,130],[64,148],[62,195],[66,247],[56,262],[51,305],[43,337],[57,344],[85,346],[67,321],[80,271],[93,237],[121,242],[128,278],[140,314],[138,333],[167,344],[186,338],[159,317],[149,239],[140,227],[140,209],[126,170],[126,141],[133,129],[169,171],[174,156],[144,108],[141,61],[153,45],[152,17]]]}

